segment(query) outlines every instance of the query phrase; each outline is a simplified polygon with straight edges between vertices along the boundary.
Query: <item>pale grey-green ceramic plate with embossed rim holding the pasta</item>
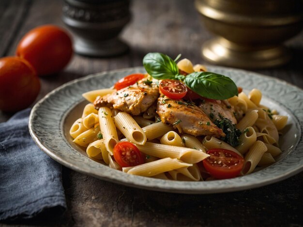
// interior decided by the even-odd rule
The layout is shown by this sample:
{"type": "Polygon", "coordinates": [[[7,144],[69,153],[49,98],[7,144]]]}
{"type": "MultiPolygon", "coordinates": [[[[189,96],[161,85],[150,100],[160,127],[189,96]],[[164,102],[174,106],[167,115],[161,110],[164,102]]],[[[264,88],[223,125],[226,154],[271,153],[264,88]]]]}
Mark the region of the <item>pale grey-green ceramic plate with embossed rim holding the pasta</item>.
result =
{"type": "Polygon", "coordinates": [[[283,153],[273,165],[234,179],[175,182],[126,174],[89,158],[69,135],[69,128],[81,116],[87,103],[81,94],[110,87],[128,74],[145,72],[141,67],[89,75],[50,92],[31,111],[30,134],[47,155],[68,168],[105,181],[157,191],[186,194],[238,191],[272,184],[303,170],[303,90],[254,72],[216,66],[208,69],[231,77],[245,90],[258,88],[263,93],[262,104],[288,115],[288,124],[280,138],[283,153]]]}

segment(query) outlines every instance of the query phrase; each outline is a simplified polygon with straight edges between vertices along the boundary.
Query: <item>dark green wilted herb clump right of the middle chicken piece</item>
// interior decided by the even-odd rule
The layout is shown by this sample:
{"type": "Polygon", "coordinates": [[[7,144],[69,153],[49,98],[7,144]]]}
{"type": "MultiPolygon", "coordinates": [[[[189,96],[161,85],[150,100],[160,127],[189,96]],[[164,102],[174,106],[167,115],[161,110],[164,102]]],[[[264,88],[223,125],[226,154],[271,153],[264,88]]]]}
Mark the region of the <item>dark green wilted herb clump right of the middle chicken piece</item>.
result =
{"type": "Polygon", "coordinates": [[[218,128],[221,128],[223,132],[226,134],[226,136],[221,137],[220,140],[227,142],[233,147],[236,147],[240,144],[239,136],[242,134],[242,132],[238,128],[236,128],[236,125],[232,124],[232,122],[229,119],[227,118],[223,118],[222,120],[216,119],[213,123],[218,128]]]}

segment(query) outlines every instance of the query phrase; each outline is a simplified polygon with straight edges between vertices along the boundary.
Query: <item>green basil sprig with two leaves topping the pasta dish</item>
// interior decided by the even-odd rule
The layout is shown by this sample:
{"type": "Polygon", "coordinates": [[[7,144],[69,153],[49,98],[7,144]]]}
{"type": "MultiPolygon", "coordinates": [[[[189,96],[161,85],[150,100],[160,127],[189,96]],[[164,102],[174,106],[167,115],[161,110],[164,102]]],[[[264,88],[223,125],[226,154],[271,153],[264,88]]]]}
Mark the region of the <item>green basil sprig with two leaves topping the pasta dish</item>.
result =
{"type": "Polygon", "coordinates": [[[161,53],[147,54],[143,65],[155,79],[182,80],[191,90],[208,99],[222,100],[238,95],[237,85],[229,77],[202,71],[180,75],[175,61],[161,53]]]}

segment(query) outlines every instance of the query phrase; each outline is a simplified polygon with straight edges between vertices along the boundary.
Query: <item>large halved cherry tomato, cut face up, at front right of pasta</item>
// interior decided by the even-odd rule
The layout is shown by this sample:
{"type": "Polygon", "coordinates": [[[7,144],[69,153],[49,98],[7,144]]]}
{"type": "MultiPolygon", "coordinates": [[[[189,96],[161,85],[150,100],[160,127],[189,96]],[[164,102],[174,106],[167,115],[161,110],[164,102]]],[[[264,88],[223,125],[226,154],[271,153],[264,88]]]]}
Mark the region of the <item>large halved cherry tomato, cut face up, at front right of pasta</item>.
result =
{"type": "Polygon", "coordinates": [[[217,179],[228,179],[239,176],[244,159],[237,153],[216,148],[207,151],[210,156],[203,160],[204,168],[217,179]]]}

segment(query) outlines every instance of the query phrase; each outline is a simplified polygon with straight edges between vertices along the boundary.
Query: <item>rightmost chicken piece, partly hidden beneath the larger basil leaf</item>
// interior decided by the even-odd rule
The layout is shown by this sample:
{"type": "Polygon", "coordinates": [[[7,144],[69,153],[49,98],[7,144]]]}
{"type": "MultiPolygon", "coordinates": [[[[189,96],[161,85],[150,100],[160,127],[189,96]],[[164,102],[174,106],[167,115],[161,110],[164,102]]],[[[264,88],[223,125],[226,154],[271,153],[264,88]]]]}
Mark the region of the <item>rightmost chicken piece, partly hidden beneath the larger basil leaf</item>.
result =
{"type": "Polygon", "coordinates": [[[203,102],[200,102],[199,108],[208,115],[212,121],[227,118],[232,124],[237,124],[234,107],[230,105],[227,100],[203,100],[203,102]]]}

